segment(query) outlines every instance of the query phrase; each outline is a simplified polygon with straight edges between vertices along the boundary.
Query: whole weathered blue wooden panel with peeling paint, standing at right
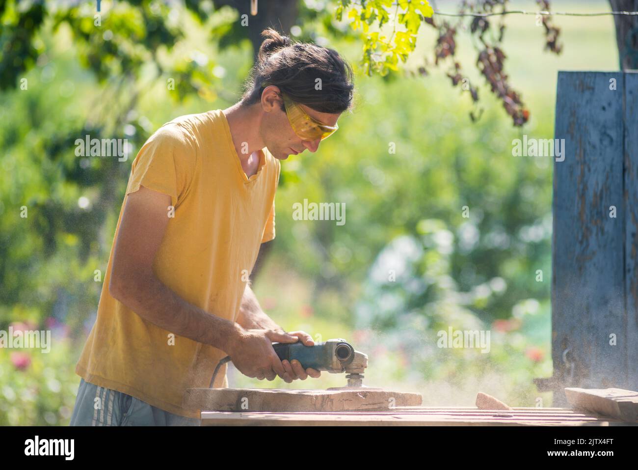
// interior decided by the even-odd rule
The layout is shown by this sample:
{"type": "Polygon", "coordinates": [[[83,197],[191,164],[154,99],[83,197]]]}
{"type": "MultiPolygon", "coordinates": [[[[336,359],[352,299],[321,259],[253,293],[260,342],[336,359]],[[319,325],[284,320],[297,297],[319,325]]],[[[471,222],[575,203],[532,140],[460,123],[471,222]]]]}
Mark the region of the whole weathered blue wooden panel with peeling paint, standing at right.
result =
{"type": "Polygon", "coordinates": [[[638,73],[559,72],[552,243],[554,377],[638,390],[638,73]]]}

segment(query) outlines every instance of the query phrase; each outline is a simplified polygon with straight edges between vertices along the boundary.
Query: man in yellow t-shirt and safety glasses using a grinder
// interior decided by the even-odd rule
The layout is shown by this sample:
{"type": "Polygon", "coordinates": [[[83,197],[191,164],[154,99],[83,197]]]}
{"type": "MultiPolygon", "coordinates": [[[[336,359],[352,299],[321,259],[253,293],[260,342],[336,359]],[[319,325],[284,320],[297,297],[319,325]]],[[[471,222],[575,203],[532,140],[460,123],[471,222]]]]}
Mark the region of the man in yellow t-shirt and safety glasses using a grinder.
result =
{"type": "MultiPolygon", "coordinates": [[[[352,69],[334,50],[262,36],[239,103],[165,124],[133,162],[71,425],[199,425],[182,395],[227,355],[248,377],[320,375],[279,360],[272,342],[313,340],[263,312],[249,275],[275,236],[279,160],[337,129],[352,69]]],[[[225,366],[213,386],[228,386],[225,366]]]]}

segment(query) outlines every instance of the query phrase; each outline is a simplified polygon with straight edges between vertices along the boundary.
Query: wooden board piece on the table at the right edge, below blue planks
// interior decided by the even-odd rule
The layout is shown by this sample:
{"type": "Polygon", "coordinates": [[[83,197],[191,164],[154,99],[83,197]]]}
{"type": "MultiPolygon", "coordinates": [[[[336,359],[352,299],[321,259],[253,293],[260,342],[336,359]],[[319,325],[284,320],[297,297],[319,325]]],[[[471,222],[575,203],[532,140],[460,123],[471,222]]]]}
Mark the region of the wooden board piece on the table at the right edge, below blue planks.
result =
{"type": "Polygon", "coordinates": [[[638,416],[638,391],[565,388],[565,395],[573,407],[634,423],[638,416]]]}

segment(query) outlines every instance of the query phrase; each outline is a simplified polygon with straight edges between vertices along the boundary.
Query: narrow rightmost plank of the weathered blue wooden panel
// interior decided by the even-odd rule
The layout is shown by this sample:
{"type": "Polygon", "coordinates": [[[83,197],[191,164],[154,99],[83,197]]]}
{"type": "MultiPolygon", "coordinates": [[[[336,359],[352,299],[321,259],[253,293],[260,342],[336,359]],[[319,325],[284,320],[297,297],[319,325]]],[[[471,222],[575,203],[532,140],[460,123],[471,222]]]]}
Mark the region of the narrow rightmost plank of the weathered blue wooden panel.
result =
{"type": "Polygon", "coordinates": [[[638,73],[625,72],[625,296],[627,326],[627,383],[638,390],[638,73]]]}

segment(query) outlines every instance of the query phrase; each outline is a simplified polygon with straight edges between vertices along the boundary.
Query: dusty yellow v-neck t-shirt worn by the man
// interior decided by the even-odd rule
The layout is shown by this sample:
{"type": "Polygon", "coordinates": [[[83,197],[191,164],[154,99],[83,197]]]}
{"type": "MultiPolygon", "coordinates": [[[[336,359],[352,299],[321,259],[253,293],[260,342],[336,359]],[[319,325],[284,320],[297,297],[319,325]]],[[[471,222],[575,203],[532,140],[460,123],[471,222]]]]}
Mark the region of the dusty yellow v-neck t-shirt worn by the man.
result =
{"type": "MultiPolygon", "coordinates": [[[[247,178],[221,110],[174,119],[135,158],[115,229],[117,238],[128,195],[140,185],[170,195],[174,218],[154,273],[181,298],[230,321],[239,313],[260,244],[275,236],[280,163],[267,148],[258,153],[258,172],[247,178]]],[[[208,387],[225,352],[176,335],[173,345],[170,331],[110,296],[113,252],[112,247],[97,319],[75,371],[89,383],[199,418],[182,409],[182,395],[186,388],[208,387]]],[[[225,366],[214,386],[228,386],[225,366]]]]}

